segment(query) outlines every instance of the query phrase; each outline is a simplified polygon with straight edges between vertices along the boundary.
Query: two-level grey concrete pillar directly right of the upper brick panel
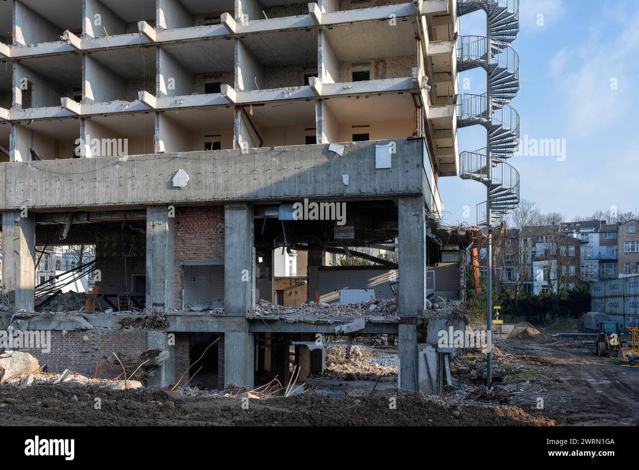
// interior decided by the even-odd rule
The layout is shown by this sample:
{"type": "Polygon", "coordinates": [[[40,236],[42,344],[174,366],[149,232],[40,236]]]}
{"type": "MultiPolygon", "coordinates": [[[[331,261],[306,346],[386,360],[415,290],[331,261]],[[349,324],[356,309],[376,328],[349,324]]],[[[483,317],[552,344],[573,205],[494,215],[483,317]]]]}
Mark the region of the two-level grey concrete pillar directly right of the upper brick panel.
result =
{"type": "MultiPolygon", "coordinates": [[[[246,203],[224,207],[224,315],[245,317],[253,304],[253,208],[246,203]]],[[[248,322],[224,333],[224,386],[253,388],[255,338],[248,322]]]]}

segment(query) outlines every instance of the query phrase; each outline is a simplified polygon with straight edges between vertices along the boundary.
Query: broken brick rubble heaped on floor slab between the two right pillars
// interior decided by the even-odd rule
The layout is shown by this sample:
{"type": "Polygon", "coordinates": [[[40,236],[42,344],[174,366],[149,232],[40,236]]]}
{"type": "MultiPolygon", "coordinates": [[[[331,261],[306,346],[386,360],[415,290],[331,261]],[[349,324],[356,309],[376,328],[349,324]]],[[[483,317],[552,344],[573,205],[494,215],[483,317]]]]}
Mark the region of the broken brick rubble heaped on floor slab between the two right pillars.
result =
{"type": "Polygon", "coordinates": [[[373,299],[351,304],[327,304],[308,302],[300,306],[282,306],[261,300],[249,310],[247,317],[259,318],[270,315],[283,317],[397,317],[395,299],[373,299]]]}

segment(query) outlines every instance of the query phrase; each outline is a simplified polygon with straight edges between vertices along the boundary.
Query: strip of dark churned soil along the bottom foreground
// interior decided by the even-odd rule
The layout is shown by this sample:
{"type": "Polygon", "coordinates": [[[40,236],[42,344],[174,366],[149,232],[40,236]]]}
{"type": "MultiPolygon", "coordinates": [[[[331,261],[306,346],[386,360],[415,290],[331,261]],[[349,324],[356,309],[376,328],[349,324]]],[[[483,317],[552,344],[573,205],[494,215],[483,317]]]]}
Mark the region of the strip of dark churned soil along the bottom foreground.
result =
{"type": "Polygon", "coordinates": [[[3,388],[0,425],[557,425],[517,407],[446,407],[423,398],[397,397],[396,408],[386,397],[326,398],[298,395],[249,400],[183,398],[169,391],[140,389],[104,391],[32,386],[19,393],[3,388]],[[55,398],[55,394],[58,398],[55,398]],[[77,397],[77,401],[73,396],[77,397]],[[102,409],[94,407],[102,398],[102,409]],[[17,400],[12,400],[17,399],[17,400]],[[160,405],[160,403],[162,403],[160,405]]]}

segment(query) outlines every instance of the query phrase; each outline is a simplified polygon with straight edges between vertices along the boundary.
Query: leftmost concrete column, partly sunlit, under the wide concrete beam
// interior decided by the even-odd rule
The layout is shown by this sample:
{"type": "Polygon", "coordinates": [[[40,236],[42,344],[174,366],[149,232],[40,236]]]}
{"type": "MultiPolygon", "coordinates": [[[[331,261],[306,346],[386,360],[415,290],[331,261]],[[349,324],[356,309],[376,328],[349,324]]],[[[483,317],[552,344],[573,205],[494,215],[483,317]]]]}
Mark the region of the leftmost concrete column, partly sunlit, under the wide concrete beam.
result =
{"type": "Polygon", "coordinates": [[[36,235],[35,219],[26,210],[10,210],[2,214],[3,294],[15,308],[34,310],[36,235]]]}

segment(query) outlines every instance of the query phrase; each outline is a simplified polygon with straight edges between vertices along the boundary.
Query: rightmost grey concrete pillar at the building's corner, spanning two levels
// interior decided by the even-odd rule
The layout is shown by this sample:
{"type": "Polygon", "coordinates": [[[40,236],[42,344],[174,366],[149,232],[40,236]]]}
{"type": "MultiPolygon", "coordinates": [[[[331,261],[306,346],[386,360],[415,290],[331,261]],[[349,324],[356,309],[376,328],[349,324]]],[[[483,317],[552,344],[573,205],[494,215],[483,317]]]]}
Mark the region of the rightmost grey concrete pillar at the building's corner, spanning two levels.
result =
{"type": "Polygon", "coordinates": [[[399,374],[403,391],[417,393],[417,317],[426,303],[426,213],[422,196],[399,198],[399,374]]]}

